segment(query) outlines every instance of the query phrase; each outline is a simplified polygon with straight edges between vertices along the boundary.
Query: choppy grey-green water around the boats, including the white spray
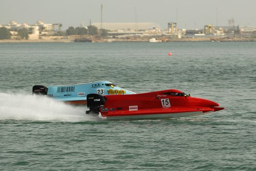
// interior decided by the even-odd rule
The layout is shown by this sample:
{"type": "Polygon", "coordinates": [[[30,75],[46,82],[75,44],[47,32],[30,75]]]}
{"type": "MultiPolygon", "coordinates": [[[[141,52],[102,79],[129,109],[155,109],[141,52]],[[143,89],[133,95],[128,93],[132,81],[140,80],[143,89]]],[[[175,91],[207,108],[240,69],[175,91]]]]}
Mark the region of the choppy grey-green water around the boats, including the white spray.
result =
{"type": "Polygon", "coordinates": [[[0,44],[0,170],[256,170],[256,42],[0,44]],[[168,56],[172,52],[173,56],[168,56]],[[224,111],[102,121],[32,86],[178,89],[224,111]]]}

